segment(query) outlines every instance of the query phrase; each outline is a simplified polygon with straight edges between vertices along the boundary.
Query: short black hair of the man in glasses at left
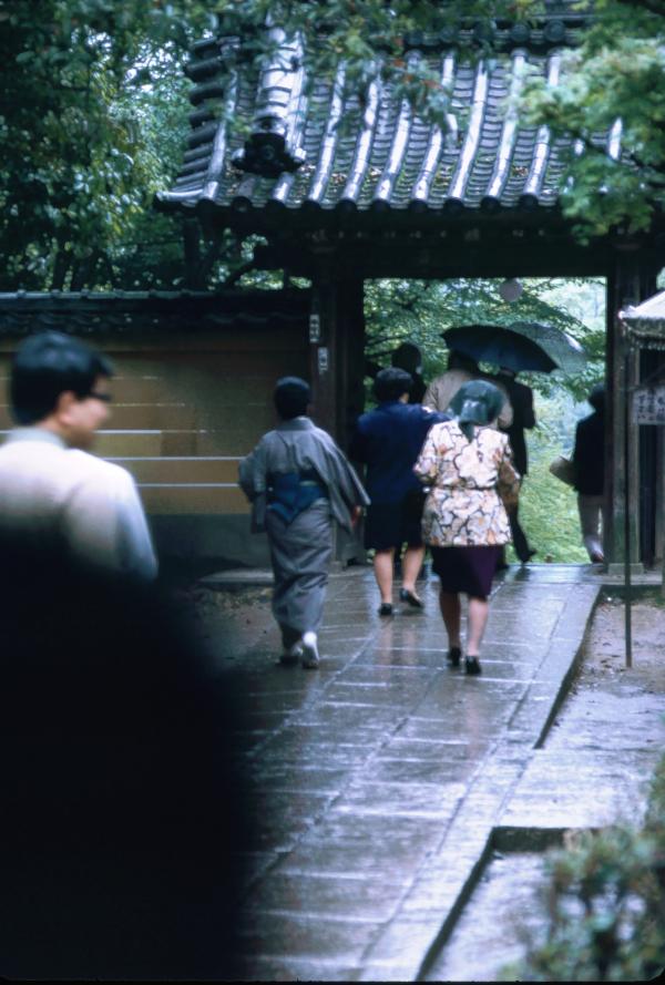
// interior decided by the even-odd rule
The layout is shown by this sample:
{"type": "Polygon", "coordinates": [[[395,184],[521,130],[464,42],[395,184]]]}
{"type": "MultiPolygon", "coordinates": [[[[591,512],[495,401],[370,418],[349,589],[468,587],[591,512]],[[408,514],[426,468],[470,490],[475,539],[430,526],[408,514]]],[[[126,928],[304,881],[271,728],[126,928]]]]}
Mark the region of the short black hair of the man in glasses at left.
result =
{"type": "Polygon", "coordinates": [[[55,410],[61,393],[71,390],[83,400],[98,377],[111,376],[106,357],[80,339],[60,331],[30,336],[12,360],[12,414],[20,424],[33,424],[55,410]]]}

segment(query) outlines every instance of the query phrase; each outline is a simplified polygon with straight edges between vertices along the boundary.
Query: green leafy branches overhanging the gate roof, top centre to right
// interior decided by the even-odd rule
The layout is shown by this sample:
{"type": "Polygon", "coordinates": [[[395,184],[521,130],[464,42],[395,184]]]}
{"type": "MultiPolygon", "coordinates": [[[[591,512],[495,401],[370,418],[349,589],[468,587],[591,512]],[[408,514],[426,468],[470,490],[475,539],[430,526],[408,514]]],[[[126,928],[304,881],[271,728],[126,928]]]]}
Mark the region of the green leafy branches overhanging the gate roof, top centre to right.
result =
{"type": "MultiPolygon", "coordinates": [[[[561,83],[532,81],[520,98],[521,115],[573,135],[562,193],[564,214],[583,239],[615,226],[646,229],[665,204],[665,0],[243,0],[215,6],[223,33],[257,39],[267,17],[304,39],[309,76],[334,75],[346,64],[346,85],[362,93],[378,71],[418,113],[443,129],[449,93],[424,61],[407,60],[415,38],[473,28],[462,55],[493,53],[501,23],[531,22],[545,12],[575,14],[584,27],[580,47],[565,53],[561,83]],[[325,38],[325,44],[321,44],[325,38]],[[618,158],[598,134],[622,121],[618,158]],[[579,153],[583,148],[584,153],[579,153]]],[[[264,44],[265,42],[264,39],[264,44]]]]}

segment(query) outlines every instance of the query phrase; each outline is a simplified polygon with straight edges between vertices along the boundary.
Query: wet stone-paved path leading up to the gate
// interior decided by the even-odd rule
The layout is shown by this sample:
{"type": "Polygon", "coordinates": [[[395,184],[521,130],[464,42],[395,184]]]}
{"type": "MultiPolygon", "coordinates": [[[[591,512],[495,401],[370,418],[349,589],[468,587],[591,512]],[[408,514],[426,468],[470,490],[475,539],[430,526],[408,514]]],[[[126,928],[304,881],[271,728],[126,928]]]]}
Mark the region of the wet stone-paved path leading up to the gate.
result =
{"type": "Polygon", "coordinates": [[[447,665],[436,578],[419,583],[424,611],[386,619],[369,568],[332,576],[318,671],[279,665],[267,591],[225,612],[215,659],[246,696],[235,755],[256,818],[238,845],[245,978],[423,974],[498,825],[551,823],[540,747],[603,582],[584,565],[511,567],[480,677],[447,665]]]}

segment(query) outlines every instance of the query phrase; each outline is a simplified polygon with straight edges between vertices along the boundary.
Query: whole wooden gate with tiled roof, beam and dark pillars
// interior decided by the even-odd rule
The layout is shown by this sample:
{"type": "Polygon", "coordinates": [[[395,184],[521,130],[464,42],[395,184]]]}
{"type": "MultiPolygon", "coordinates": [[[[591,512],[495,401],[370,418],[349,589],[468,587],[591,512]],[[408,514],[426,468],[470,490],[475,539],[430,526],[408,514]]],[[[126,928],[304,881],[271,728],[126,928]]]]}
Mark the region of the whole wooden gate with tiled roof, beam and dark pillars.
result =
{"type": "MultiPolygon", "coordinates": [[[[492,59],[460,57],[460,40],[484,40],[472,27],[407,39],[407,60],[424,59],[452,88],[446,132],[426,124],[380,75],[362,102],[345,94],[344,65],[334,81],[308,80],[298,39],[278,28],[272,29],[273,63],[260,73],[237,58],[244,39],[202,41],[186,69],[194,110],[184,164],[158,206],[185,217],[193,270],[198,227],[207,235],[231,229],[265,237],[267,245],[255,252],[259,267],[310,278],[307,346],[316,417],[342,445],[362,409],[366,279],[604,277],[606,555],[618,562],[622,392],[632,381],[623,378],[617,312],[655,289],[665,230],[630,236],[618,228],[581,245],[559,206],[565,156],[575,146],[504,112],[526,70],[560,84],[562,51],[579,43],[584,16],[567,2],[550,10],[533,27],[498,23],[492,59]],[[242,129],[229,121],[242,122],[248,135],[238,135],[242,129]]],[[[620,158],[621,121],[597,143],[620,158]]],[[[635,372],[651,372],[651,358],[635,372]]],[[[652,433],[633,437],[631,499],[640,503],[640,523],[632,556],[653,563],[663,553],[653,480],[664,462],[652,433]]]]}

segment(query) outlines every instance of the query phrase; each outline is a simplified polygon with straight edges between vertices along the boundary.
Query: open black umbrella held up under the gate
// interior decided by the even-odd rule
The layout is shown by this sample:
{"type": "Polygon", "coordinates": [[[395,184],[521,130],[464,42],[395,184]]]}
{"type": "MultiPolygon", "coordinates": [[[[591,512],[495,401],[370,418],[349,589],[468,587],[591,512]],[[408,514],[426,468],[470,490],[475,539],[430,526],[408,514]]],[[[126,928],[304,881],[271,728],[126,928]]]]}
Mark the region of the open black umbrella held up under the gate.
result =
{"type": "Polygon", "coordinates": [[[504,366],[514,372],[552,372],[554,360],[526,336],[499,325],[464,325],[443,332],[449,349],[471,359],[504,366]]]}

